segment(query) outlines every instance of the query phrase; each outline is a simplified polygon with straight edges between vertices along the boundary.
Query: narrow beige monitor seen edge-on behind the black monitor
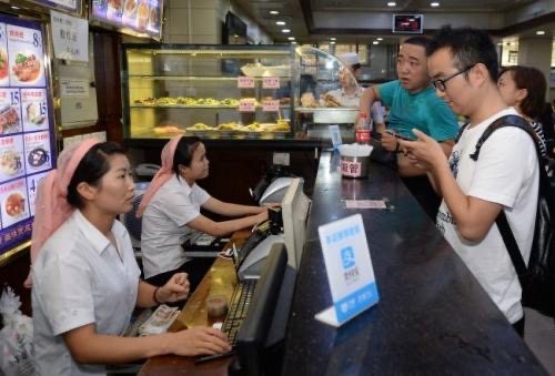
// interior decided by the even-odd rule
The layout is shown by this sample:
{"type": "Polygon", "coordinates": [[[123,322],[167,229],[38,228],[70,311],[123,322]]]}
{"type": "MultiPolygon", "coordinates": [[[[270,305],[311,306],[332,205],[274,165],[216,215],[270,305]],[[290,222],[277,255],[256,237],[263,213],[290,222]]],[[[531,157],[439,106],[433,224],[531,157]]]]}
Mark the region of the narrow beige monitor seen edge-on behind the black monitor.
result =
{"type": "Polygon", "coordinates": [[[311,200],[303,192],[303,186],[304,181],[302,179],[292,179],[291,185],[281,202],[287,263],[295,271],[301,264],[306,219],[311,204],[311,200]]]}

